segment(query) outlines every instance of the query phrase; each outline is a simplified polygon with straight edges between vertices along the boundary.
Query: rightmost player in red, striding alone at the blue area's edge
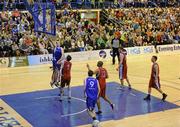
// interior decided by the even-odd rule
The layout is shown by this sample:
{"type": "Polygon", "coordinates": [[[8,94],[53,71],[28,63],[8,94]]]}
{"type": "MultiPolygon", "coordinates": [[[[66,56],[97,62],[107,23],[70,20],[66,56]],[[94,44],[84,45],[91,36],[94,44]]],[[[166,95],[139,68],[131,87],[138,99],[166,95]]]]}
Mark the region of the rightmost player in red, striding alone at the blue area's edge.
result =
{"type": "Polygon", "coordinates": [[[149,81],[148,87],[148,95],[144,98],[144,100],[151,100],[151,88],[155,88],[162,94],[162,100],[165,101],[167,94],[163,93],[160,86],[160,79],[159,79],[159,65],[156,62],[157,56],[152,56],[151,61],[153,63],[152,70],[151,70],[151,78],[149,81]]]}

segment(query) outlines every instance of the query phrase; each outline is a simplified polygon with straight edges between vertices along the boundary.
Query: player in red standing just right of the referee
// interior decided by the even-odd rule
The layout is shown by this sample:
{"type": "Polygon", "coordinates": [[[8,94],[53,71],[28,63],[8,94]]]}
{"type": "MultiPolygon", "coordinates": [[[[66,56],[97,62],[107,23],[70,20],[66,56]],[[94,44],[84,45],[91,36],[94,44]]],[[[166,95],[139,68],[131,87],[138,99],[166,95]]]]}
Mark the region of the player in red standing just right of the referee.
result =
{"type": "Polygon", "coordinates": [[[120,62],[116,70],[119,71],[119,79],[120,79],[121,85],[124,87],[124,79],[126,79],[129,89],[131,89],[131,84],[127,76],[126,55],[127,55],[127,51],[124,48],[120,48],[119,49],[120,62]]]}

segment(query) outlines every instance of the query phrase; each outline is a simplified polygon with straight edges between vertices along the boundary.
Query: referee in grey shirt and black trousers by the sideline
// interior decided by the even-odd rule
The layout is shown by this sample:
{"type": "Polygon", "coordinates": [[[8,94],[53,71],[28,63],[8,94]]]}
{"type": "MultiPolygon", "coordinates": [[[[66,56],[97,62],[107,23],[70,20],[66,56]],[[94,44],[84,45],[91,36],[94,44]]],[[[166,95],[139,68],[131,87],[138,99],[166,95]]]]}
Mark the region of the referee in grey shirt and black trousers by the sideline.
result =
{"type": "Polygon", "coordinates": [[[120,58],[119,58],[120,40],[119,40],[118,36],[115,36],[115,38],[111,42],[111,45],[112,45],[112,52],[113,52],[112,64],[114,65],[116,55],[118,57],[118,62],[120,61],[120,58]]]}

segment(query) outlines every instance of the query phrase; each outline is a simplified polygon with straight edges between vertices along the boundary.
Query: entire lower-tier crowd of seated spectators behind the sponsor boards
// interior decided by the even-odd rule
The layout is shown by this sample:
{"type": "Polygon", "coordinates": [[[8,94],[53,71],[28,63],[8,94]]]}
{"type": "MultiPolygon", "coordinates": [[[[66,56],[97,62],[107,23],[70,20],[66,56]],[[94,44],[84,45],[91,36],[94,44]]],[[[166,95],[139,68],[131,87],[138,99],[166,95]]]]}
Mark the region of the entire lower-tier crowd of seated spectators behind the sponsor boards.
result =
{"type": "MultiPolygon", "coordinates": [[[[111,48],[113,38],[123,46],[180,43],[179,8],[109,9],[109,19],[99,24],[82,19],[80,12],[57,12],[57,35],[34,32],[30,13],[2,11],[0,16],[0,57],[48,54],[60,43],[65,52],[111,48]]],[[[101,16],[100,16],[101,17],[101,16]]]]}

